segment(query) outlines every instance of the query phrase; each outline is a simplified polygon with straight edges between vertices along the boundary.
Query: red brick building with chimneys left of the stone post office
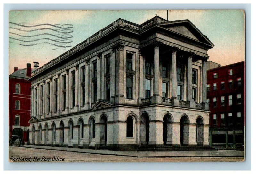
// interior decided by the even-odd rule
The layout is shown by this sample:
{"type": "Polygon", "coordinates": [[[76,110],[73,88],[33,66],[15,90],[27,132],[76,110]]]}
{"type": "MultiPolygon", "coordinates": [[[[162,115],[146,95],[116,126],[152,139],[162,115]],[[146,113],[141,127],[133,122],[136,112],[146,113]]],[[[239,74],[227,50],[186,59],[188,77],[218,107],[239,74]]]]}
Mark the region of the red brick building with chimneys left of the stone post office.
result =
{"type": "Polygon", "coordinates": [[[9,136],[18,135],[24,138],[25,143],[29,140],[30,119],[31,82],[28,78],[33,70],[27,63],[27,68],[14,67],[14,72],[9,75],[9,136]]]}

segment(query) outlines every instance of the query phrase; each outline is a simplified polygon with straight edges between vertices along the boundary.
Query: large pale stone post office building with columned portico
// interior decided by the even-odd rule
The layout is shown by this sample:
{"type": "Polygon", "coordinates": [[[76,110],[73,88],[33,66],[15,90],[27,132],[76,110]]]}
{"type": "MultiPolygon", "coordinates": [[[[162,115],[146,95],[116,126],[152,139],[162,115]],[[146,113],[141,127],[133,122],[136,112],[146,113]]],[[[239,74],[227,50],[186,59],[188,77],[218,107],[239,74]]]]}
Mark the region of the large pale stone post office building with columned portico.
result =
{"type": "Polygon", "coordinates": [[[31,144],[209,146],[213,46],[189,20],[114,21],[34,71],[31,144]]]}

